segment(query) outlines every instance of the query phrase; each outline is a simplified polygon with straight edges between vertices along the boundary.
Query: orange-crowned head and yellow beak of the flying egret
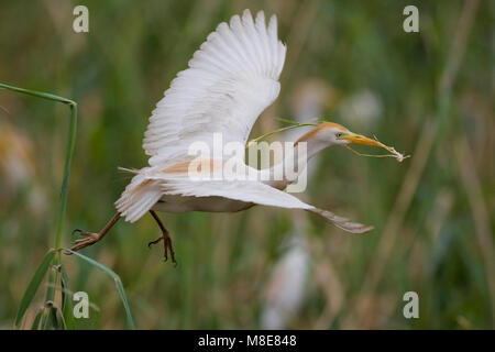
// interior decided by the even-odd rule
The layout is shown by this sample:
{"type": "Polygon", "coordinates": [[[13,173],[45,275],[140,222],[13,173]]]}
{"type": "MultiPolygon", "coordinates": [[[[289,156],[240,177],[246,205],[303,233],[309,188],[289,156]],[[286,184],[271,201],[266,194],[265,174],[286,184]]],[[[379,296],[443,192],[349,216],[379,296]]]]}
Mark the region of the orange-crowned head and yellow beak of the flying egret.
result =
{"type": "Polygon", "coordinates": [[[350,143],[381,146],[377,141],[353,133],[343,125],[334,122],[320,123],[318,127],[302,135],[299,141],[316,141],[318,143],[326,144],[326,146],[350,143]]]}

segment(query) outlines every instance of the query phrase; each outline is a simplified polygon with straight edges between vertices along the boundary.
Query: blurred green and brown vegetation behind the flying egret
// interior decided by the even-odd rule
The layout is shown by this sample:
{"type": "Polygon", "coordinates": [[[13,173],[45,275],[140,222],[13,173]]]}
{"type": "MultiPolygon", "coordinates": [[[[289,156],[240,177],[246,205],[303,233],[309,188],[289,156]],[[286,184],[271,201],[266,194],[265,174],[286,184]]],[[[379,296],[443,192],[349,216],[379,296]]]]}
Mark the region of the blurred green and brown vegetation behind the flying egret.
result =
{"type": "MultiPolygon", "coordinates": [[[[365,237],[312,217],[296,227],[299,215],[266,207],[162,215],[174,268],[146,246],[160,235],[150,216],[119,222],[82,253],[120,275],[138,328],[263,327],[271,274],[294,232],[309,262],[288,328],[495,328],[495,4],[420,1],[420,32],[405,33],[409,2],[0,1],[0,81],[79,105],[64,246],[73,229],[98,231],[110,219],[130,179],[117,167],[146,165],[141,141],[154,105],[208,33],[245,8],[276,13],[288,47],[280,96],[252,136],[278,127],[274,117],[296,118],[312,82],[324,118],[413,154],[397,164],[322,153],[302,197],[374,224],[365,237]],[[89,33],[72,30],[76,4],[89,8],[89,33]],[[419,319],[403,317],[409,290],[419,319]]],[[[4,329],[53,245],[68,122],[64,106],[0,90],[4,329]]],[[[98,307],[76,328],[125,328],[114,283],[74,255],[62,260],[70,289],[98,307]]]]}

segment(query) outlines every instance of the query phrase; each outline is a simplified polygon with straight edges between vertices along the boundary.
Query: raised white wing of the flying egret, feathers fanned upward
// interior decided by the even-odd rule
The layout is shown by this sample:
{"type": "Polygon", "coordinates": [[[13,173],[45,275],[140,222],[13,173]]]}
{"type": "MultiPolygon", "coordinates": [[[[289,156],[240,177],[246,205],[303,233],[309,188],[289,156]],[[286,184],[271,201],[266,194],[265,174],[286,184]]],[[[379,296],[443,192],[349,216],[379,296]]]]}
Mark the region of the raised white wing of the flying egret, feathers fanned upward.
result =
{"type": "Polygon", "coordinates": [[[143,141],[150,165],[184,161],[194,142],[211,146],[213,133],[221,133],[223,143],[245,143],[260,113],[278,96],[285,52],[275,15],[268,26],[262,11],[253,21],[249,10],[230,25],[220,23],[150,118],[143,141]]]}

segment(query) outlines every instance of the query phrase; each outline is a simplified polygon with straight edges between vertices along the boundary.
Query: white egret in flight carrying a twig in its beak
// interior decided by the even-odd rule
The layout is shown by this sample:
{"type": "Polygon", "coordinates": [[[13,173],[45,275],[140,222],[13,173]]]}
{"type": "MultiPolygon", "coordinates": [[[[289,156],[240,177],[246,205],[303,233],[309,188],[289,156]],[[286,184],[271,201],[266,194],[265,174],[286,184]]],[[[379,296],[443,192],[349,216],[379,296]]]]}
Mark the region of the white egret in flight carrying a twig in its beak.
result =
{"type": "MultiPolygon", "coordinates": [[[[133,170],[136,175],[116,202],[118,212],[100,232],[75,230],[84,238],[76,240],[72,250],[100,241],[121,217],[134,222],[150,212],[162,230],[162,235],[150,244],[163,241],[164,258],[167,260],[169,253],[175,263],[170,237],[155,211],[234,212],[254,205],[307,210],[351,233],[371,231],[373,227],[338,217],[285,193],[286,186],[295,182],[294,177],[284,176],[276,182],[256,177],[274,172],[277,165],[255,169],[255,177],[248,179],[188,177],[194,157],[188,148],[193,143],[211,146],[212,134],[220,133],[223,143],[245,145],[257,117],[278,96],[285,53],[286,46],[277,37],[275,15],[266,25],[262,11],[253,20],[245,10],[242,18],[232,16],[230,24],[220,23],[194,54],[189,67],[177,74],[150,118],[143,141],[143,148],[151,156],[150,166],[133,170]]],[[[294,145],[301,142],[307,143],[307,157],[302,163],[336,144],[383,146],[332,122],[318,124],[294,145]]],[[[250,168],[244,160],[239,162],[250,168]]]]}

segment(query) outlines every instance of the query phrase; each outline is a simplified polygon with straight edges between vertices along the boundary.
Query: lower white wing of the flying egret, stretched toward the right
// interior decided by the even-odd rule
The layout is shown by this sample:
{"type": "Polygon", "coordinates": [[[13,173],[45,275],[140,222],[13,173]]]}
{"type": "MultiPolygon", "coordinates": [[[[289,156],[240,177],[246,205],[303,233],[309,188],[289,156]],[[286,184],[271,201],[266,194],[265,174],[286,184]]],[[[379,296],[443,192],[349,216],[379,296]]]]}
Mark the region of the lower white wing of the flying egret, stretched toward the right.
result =
{"type": "Polygon", "coordinates": [[[182,195],[193,197],[223,197],[228,199],[241,200],[250,204],[302,209],[314,212],[339,229],[351,233],[365,233],[373,230],[373,227],[352,222],[346,218],[339,217],[331,211],[318,209],[307,205],[298,198],[254,180],[167,180],[162,184],[162,190],[168,195],[182,195]]]}

